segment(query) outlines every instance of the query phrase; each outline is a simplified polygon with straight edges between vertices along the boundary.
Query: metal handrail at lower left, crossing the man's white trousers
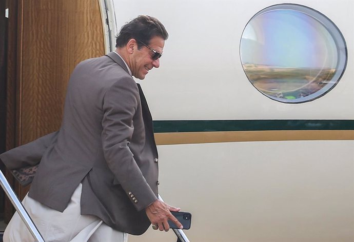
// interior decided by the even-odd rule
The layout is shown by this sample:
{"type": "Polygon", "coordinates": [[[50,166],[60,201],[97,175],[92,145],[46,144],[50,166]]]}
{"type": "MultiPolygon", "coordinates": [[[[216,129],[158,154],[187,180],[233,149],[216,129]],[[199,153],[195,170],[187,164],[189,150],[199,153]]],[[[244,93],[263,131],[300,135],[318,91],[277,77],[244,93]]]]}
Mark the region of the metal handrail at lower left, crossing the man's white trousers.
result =
{"type": "Polygon", "coordinates": [[[36,240],[36,242],[45,242],[40,231],[38,231],[37,227],[35,227],[31,217],[28,215],[25,207],[22,205],[21,201],[18,199],[15,192],[12,190],[10,184],[8,183],[8,181],[2,171],[0,171],[0,185],[4,189],[6,195],[10,199],[13,207],[15,207],[18,215],[24,221],[27,229],[32,234],[32,236],[36,240]]]}

